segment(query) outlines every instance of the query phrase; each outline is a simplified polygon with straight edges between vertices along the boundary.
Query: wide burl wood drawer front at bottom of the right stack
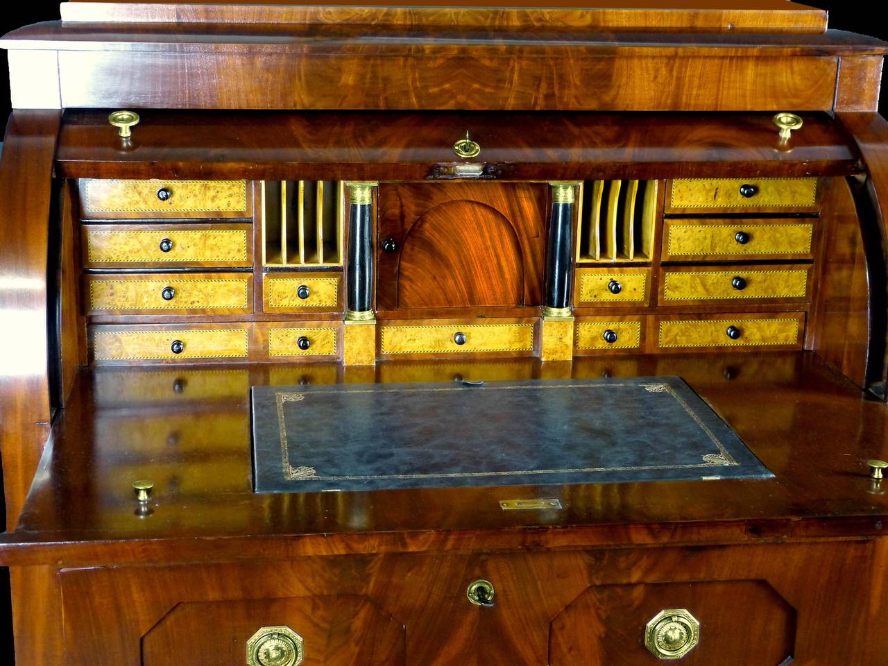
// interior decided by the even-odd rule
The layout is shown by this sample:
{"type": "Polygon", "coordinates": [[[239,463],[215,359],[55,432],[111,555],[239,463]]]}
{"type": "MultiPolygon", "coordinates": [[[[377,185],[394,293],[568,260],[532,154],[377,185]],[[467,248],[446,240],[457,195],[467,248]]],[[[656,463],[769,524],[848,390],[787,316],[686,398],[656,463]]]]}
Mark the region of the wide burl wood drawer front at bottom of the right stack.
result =
{"type": "Polygon", "coordinates": [[[689,315],[662,317],[657,322],[661,351],[706,351],[718,347],[798,348],[805,313],[689,315]]]}

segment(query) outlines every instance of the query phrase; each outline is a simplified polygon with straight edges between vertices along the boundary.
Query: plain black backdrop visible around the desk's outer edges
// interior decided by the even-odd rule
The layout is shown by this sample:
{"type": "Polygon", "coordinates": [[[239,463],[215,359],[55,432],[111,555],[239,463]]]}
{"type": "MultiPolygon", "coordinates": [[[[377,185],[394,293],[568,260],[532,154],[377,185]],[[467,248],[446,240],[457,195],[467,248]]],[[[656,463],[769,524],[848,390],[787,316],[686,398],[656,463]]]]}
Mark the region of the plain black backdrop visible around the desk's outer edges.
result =
{"type": "MultiPolygon", "coordinates": [[[[225,2],[225,0],[219,0],[225,2]]],[[[322,4],[322,0],[318,0],[322,4]]],[[[356,1],[355,4],[360,4],[356,1]]],[[[392,2],[391,4],[409,4],[409,2],[392,2]]],[[[442,0],[440,4],[447,4],[442,0]]],[[[480,2],[479,4],[484,4],[480,2]]],[[[558,6],[558,0],[553,0],[552,6],[558,6]]],[[[680,0],[677,1],[680,5],[680,0]]],[[[888,40],[888,23],[873,20],[872,12],[861,12],[860,4],[849,0],[844,2],[825,2],[824,0],[809,0],[805,4],[829,10],[829,27],[841,30],[851,30],[865,35],[872,35],[888,40]]],[[[0,15],[0,33],[7,33],[14,28],[37,23],[43,20],[59,19],[59,2],[48,0],[30,0],[25,4],[14,4],[15,12],[3,12],[0,15]],[[11,19],[12,15],[14,19],[11,19]]],[[[6,67],[6,52],[2,52],[3,62],[0,63],[0,118],[5,119],[10,113],[9,101],[9,76],[6,67]]],[[[883,87],[888,87],[888,80],[883,87]]],[[[882,115],[888,111],[888,94],[883,91],[879,109],[882,115]]],[[[789,109],[791,110],[791,109],[789,109]]],[[[5,125],[5,120],[3,121],[5,125]]],[[[0,415],[2,418],[3,415],[0,415]]],[[[2,501],[2,499],[0,499],[2,501]]],[[[2,515],[2,514],[0,514],[2,515]]],[[[12,622],[10,620],[9,603],[9,577],[6,569],[0,569],[0,663],[12,663],[12,622]]],[[[101,665],[99,665],[101,666],[101,665]]]]}

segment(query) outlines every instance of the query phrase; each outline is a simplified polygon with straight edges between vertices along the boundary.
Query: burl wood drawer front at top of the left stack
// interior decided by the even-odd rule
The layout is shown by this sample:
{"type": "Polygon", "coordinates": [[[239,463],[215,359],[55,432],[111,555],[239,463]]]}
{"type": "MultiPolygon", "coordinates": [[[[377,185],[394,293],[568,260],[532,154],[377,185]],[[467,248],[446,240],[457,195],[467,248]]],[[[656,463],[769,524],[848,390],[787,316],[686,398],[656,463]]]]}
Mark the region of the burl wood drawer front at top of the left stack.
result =
{"type": "Polygon", "coordinates": [[[246,180],[118,180],[84,178],[84,218],[248,218],[246,180]]]}

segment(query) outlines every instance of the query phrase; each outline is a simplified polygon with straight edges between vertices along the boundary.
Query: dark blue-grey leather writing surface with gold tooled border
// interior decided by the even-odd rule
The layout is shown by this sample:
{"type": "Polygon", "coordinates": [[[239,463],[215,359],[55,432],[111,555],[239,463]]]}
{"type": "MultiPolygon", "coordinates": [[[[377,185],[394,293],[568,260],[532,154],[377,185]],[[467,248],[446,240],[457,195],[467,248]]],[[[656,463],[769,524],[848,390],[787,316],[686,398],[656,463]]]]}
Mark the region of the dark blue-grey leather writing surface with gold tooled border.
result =
{"type": "Polygon", "coordinates": [[[260,493],[773,476],[679,377],[252,387],[260,493]]]}

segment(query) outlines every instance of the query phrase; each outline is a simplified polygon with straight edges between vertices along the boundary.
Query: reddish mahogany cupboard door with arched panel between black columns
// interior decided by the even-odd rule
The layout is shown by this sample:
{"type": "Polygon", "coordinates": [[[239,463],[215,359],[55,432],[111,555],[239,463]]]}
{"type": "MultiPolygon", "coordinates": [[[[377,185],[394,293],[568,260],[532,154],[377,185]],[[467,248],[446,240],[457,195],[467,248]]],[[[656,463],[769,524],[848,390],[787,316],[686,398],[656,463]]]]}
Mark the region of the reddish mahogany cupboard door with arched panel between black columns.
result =
{"type": "Polygon", "coordinates": [[[542,184],[380,186],[378,308],[539,305],[545,200],[542,184]]]}

